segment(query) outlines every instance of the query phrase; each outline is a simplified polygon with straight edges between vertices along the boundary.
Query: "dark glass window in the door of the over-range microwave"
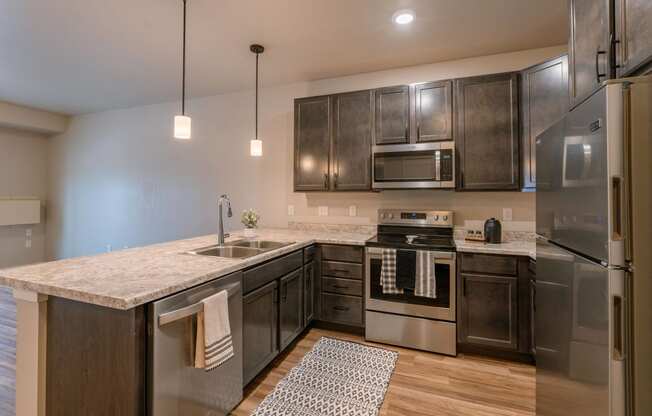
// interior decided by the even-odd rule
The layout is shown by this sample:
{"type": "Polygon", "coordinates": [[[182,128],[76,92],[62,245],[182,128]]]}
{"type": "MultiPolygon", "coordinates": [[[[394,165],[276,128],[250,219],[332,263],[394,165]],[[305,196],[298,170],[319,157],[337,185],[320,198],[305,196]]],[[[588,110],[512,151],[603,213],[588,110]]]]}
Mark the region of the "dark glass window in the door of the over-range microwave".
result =
{"type": "Polygon", "coordinates": [[[374,156],[376,181],[434,181],[434,152],[380,153],[374,156]]]}

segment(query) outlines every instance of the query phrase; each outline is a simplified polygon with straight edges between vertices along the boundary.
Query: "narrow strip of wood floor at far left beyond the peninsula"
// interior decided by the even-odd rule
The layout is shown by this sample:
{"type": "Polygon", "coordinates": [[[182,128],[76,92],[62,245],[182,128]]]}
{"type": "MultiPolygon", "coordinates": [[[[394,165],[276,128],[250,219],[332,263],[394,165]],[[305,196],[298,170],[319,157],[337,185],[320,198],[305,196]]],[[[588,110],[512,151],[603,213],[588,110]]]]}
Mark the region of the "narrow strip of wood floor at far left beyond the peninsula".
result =
{"type": "Polygon", "coordinates": [[[16,401],[16,304],[0,287],[0,415],[13,416],[16,401]]]}

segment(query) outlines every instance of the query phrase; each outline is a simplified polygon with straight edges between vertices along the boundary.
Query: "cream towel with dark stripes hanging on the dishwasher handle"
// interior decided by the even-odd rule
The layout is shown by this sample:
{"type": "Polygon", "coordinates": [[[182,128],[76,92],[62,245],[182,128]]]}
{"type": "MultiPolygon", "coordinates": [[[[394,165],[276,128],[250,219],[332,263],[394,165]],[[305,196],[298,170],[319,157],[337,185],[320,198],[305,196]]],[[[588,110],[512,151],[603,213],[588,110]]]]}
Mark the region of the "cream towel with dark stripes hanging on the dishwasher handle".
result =
{"type": "Polygon", "coordinates": [[[202,300],[197,314],[195,368],[213,370],[234,355],[229,323],[229,294],[226,290],[202,300]]]}

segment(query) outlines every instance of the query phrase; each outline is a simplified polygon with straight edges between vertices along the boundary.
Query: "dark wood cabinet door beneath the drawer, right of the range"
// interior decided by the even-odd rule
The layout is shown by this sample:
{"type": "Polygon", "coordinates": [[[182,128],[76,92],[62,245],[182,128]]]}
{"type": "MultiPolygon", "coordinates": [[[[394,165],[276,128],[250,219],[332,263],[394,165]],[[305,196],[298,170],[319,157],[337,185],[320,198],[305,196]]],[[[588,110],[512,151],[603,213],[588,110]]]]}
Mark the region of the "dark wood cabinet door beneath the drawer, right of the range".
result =
{"type": "Polygon", "coordinates": [[[518,278],[460,274],[459,342],[518,351],[518,278]]]}

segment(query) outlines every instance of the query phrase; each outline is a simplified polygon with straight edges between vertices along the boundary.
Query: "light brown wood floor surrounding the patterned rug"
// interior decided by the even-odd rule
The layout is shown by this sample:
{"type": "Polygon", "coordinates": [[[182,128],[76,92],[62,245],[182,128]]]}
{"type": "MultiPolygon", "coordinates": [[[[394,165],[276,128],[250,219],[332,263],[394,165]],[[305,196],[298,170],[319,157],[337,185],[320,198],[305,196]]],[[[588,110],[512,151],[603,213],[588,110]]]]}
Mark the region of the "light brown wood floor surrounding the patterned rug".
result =
{"type": "Polygon", "coordinates": [[[311,329],[245,390],[233,411],[250,415],[322,336],[399,352],[381,416],[534,416],[535,368],[472,355],[446,357],[364,342],[360,336],[311,329]]]}

